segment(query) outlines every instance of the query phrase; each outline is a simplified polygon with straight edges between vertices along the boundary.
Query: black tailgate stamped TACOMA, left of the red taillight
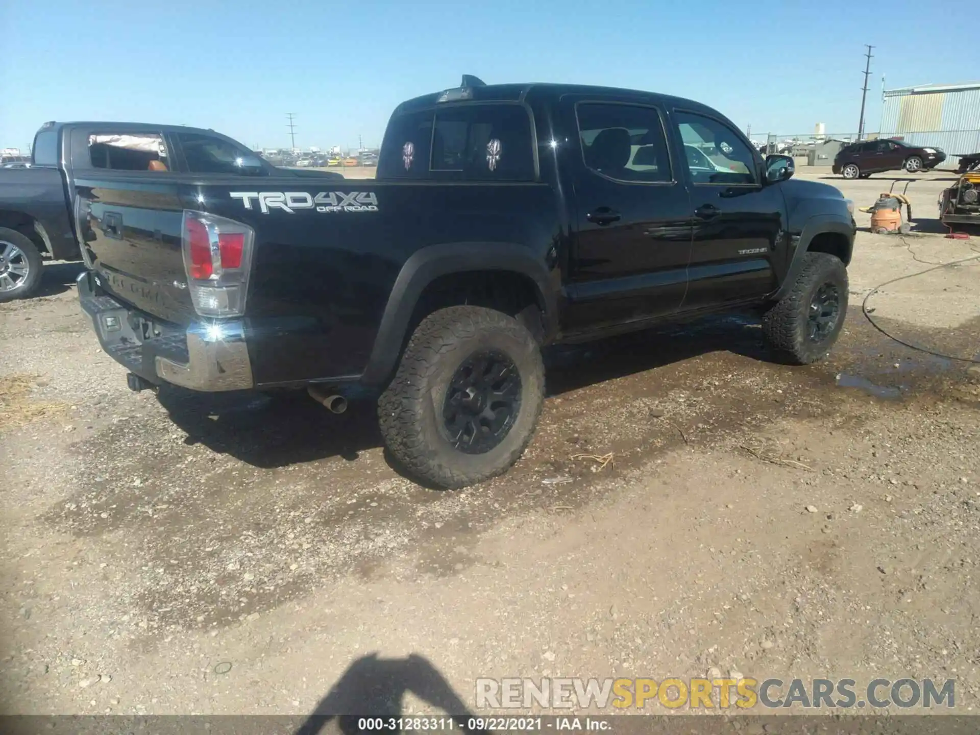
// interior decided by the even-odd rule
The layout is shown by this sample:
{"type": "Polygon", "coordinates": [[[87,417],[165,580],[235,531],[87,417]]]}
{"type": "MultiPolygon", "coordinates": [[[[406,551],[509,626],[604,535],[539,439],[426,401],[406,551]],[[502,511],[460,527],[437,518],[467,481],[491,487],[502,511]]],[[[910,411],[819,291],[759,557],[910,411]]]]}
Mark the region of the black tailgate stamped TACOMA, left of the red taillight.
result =
{"type": "Polygon", "coordinates": [[[193,319],[180,249],[184,207],[177,186],[124,174],[78,177],[74,185],[83,257],[102,288],[161,319],[178,324],[193,319]]]}

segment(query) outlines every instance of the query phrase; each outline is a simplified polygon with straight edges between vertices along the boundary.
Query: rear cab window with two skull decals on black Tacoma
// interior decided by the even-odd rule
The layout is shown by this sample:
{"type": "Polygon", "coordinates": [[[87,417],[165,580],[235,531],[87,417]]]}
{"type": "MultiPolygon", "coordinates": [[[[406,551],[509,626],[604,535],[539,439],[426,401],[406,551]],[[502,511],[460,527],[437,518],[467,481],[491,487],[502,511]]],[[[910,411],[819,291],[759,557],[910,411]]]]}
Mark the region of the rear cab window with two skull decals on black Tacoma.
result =
{"type": "Polygon", "coordinates": [[[534,148],[519,105],[466,105],[393,118],[379,178],[531,181],[534,148]]]}

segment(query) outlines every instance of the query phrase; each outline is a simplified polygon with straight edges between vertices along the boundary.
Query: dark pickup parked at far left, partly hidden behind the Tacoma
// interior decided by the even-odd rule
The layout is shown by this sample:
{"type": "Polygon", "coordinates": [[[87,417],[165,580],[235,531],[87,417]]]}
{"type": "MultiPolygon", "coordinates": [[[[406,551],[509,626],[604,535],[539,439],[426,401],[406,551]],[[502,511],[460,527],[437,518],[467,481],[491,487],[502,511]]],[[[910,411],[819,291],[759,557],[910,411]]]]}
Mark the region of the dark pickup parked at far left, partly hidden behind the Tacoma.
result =
{"type": "Polygon", "coordinates": [[[31,296],[42,259],[77,261],[75,172],[227,173],[341,178],[273,168],[226,135],[184,125],[44,123],[30,168],[0,169],[0,302],[31,296]]]}

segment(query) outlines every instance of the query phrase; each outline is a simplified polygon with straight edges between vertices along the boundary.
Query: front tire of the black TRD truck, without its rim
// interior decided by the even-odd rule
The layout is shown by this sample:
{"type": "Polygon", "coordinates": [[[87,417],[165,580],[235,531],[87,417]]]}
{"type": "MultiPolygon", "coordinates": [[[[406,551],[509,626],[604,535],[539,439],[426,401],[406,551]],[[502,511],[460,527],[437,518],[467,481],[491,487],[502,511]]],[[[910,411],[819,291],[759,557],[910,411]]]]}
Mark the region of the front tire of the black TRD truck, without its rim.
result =
{"type": "Polygon", "coordinates": [[[809,365],[821,360],[837,341],[847,310],[848,270],[844,264],[827,253],[807,253],[789,292],[762,316],[762,335],[777,361],[809,365]],[[837,321],[823,339],[814,342],[809,338],[809,310],[824,284],[837,289],[837,321]]]}

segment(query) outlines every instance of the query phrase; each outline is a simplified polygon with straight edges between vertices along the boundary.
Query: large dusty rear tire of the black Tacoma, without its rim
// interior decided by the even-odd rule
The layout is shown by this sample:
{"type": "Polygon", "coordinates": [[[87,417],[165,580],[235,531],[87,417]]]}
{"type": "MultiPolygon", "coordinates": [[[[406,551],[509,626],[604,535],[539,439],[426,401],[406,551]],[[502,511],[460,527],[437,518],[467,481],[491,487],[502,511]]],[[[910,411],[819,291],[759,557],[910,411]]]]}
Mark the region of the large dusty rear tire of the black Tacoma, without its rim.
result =
{"type": "Polygon", "coordinates": [[[516,319],[482,307],[440,309],[418,324],[391,383],[378,399],[378,421],[392,456],[422,483],[458,489],[503,473],[527,447],[544,402],[541,349],[516,319]],[[443,426],[450,382],[472,355],[506,356],[520,380],[520,405],[510,430],[483,454],[457,449],[443,426]]]}

